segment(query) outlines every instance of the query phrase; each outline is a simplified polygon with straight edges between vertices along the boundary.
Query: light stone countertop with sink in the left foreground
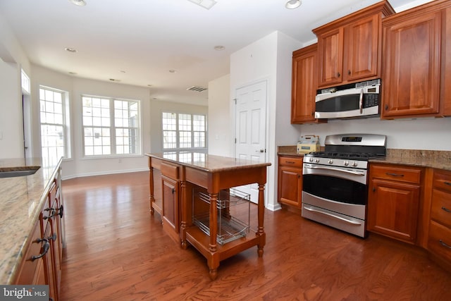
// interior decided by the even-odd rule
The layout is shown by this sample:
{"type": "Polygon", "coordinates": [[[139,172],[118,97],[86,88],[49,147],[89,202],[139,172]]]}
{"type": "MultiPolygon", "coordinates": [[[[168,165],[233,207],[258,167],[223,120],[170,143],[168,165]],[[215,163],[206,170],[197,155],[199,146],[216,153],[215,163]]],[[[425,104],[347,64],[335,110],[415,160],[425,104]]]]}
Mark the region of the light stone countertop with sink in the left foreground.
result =
{"type": "Polygon", "coordinates": [[[40,168],[31,176],[0,178],[0,284],[11,284],[24,247],[47,199],[57,164],[43,166],[41,159],[0,159],[0,171],[40,168]]]}

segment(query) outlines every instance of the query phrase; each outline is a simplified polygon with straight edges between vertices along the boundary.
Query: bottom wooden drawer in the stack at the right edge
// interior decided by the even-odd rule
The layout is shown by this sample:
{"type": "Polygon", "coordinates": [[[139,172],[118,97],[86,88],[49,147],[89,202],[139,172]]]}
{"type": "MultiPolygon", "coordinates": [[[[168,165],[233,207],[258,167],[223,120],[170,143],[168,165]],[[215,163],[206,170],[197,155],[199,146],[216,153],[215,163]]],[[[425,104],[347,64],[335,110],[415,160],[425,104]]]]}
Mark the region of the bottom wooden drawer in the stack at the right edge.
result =
{"type": "Polygon", "coordinates": [[[451,261],[451,229],[431,221],[429,224],[428,250],[451,261]]]}

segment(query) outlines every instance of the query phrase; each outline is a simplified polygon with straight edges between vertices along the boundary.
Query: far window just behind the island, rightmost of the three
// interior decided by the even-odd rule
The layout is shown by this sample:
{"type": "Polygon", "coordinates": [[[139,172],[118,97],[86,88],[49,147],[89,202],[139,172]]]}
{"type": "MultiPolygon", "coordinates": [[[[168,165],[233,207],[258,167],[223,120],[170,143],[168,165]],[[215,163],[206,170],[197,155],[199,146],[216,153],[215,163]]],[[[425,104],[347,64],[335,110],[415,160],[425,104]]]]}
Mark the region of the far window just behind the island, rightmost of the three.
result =
{"type": "Polygon", "coordinates": [[[163,112],[163,149],[206,148],[206,116],[163,112]]]}

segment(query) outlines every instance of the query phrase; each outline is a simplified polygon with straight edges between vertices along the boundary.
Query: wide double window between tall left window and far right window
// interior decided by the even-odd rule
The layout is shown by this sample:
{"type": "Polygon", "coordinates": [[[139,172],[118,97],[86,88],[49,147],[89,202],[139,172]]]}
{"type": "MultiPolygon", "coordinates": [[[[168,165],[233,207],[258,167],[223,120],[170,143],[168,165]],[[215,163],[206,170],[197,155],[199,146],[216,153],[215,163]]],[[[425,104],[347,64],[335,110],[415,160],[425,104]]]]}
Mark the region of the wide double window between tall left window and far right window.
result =
{"type": "Polygon", "coordinates": [[[141,154],[140,102],[82,96],[85,156],[141,154]]]}

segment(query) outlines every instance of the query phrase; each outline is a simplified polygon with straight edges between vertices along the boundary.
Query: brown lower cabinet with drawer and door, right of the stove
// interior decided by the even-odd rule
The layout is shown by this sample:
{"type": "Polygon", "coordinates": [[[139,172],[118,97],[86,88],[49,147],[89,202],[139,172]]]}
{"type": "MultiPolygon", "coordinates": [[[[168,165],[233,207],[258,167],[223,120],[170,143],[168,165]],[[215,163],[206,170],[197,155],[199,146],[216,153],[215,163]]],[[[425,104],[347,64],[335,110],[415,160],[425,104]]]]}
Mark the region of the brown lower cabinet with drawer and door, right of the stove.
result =
{"type": "Polygon", "coordinates": [[[416,243],[422,168],[370,164],[367,230],[416,243]]]}

